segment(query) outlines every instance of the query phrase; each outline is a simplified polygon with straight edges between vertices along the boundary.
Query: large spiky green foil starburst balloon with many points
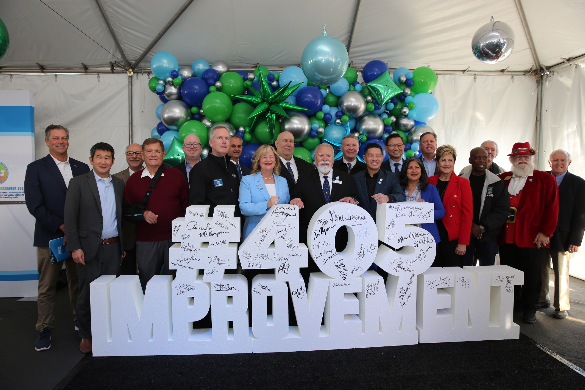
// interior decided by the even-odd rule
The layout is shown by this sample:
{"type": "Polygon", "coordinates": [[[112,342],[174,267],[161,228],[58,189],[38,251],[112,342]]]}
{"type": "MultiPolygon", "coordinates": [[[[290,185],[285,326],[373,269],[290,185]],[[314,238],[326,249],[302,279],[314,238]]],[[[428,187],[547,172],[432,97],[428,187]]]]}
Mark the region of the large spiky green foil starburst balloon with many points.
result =
{"type": "MultiPolygon", "coordinates": [[[[261,75],[261,73],[260,73],[261,75]]],[[[274,128],[276,127],[276,116],[288,117],[288,111],[311,111],[307,108],[302,108],[297,105],[285,102],[284,99],[288,98],[302,83],[288,87],[291,83],[278,88],[274,92],[270,92],[268,81],[265,77],[258,78],[260,82],[260,91],[256,88],[248,87],[252,96],[249,95],[230,95],[233,98],[240,99],[243,102],[255,105],[254,111],[248,116],[247,119],[254,118],[250,129],[254,129],[260,121],[266,117],[270,130],[270,139],[274,137],[274,128]]]]}

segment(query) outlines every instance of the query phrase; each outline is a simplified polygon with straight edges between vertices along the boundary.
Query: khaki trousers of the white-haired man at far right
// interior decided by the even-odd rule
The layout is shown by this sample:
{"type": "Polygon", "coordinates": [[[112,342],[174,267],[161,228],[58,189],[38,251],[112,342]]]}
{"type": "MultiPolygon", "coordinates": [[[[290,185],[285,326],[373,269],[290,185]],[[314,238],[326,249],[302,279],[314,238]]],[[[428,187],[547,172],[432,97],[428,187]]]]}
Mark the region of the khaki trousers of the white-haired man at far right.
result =
{"type": "Polygon", "coordinates": [[[556,310],[569,310],[569,252],[559,252],[553,249],[545,249],[549,256],[542,260],[542,290],[538,302],[550,301],[549,278],[550,260],[555,270],[555,300],[553,306],[556,310]]]}

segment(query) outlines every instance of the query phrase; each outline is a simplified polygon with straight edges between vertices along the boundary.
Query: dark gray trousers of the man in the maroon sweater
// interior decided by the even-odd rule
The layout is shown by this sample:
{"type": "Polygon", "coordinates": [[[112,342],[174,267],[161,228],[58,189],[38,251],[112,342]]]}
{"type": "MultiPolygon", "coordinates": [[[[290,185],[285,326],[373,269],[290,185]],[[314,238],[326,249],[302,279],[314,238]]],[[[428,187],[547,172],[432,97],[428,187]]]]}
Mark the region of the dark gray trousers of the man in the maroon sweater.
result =
{"type": "Polygon", "coordinates": [[[163,270],[164,275],[177,275],[176,270],[168,268],[168,249],[173,246],[173,240],[163,241],[136,241],[136,263],[138,277],[142,291],[146,291],[146,284],[154,275],[163,270]],[[164,268],[163,268],[164,267],[164,268]]]}

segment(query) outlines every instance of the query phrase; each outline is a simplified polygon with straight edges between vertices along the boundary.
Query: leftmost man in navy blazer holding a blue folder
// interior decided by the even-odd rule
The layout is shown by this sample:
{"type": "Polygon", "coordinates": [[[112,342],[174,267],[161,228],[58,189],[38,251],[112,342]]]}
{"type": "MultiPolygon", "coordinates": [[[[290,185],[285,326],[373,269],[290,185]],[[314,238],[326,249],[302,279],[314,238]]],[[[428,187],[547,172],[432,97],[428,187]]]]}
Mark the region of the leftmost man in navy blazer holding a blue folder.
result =
{"type": "MultiPolygon", "coordinates": [[[[74,160],[67,155],[69,148],[69,130],[63,126],[50,125],[44,130],[44,141],[49,147],[49,154],[30,163],[26,167],[25,200],[26,207],[35,217],[35,240],[37,247],[37,267],[39,269],[39,296],[37,298],[36,330],[39,331],[35,349],[42,351],[51,347],[51,329],[55,322],[53,309],[57,278],[62,263],[51,264],[49,241],[65,235],[63,213],[65,194],[71,178],[90,171],[87,164],[74,160]]],[[[65,261],[69,299],[75,318],[77,306],[77,270],[73,259],[65,261]]],[[[75,325],[77,329],[77,325],[75,325]]]]}

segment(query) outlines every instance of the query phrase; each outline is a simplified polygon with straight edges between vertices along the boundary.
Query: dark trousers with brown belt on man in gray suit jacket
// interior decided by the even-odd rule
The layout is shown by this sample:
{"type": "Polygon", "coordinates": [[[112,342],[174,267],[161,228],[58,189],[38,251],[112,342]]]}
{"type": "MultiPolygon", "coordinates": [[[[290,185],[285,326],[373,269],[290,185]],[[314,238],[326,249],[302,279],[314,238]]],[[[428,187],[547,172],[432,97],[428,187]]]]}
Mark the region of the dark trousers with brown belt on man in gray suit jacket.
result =
{"type": "Polygon", "coordinates": [[[77,264],[79,296],[77,298],[77,326],[82,339],[91,339],[90,283],[101,275],[118,275],[120,272],[120,241],[100,244],[98,252],[85,265],[77,264]]]}

